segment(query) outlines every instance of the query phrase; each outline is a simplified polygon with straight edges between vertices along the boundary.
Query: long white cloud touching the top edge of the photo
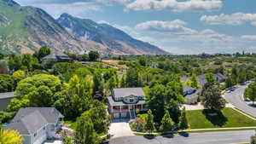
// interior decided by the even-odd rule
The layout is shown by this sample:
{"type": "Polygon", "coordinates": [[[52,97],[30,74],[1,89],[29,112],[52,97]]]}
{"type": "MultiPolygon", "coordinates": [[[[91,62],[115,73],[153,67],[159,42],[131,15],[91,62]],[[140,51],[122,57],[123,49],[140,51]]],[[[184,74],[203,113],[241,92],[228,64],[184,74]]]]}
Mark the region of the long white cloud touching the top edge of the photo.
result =
{"type": "Polygon", "coordinates": [[[222,5],[221,0],[136,0],[129,3],[126,10],[212,11],[220,9],[222,5]]]}

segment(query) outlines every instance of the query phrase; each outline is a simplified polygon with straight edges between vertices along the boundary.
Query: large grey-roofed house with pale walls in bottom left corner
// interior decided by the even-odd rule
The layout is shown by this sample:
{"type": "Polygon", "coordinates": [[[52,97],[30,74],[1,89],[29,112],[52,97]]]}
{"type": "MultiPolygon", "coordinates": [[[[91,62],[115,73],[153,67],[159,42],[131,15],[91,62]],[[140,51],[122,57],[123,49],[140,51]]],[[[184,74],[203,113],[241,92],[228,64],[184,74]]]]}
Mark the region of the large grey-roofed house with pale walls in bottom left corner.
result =
{"type": "Polygon", "coordinates": [[[23,144],[42,144],[48,139],[59,138],[63,115],[54,107],[20,108],[15,118],[4,130],[17,130],[23,137],[23,144]]]}

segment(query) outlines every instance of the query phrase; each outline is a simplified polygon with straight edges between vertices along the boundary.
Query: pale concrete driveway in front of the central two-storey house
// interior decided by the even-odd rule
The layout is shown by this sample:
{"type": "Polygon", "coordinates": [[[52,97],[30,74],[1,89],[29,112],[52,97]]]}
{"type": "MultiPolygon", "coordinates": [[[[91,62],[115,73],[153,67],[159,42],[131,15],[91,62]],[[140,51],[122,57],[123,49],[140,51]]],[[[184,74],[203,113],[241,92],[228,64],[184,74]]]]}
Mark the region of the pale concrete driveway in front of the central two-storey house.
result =
{"type": "Polygon", "coordinates": [[[130,119],[113,119],[108,130],[109,134],[113,135],[113,138],[133,135],[129,120],[130,119]]]}

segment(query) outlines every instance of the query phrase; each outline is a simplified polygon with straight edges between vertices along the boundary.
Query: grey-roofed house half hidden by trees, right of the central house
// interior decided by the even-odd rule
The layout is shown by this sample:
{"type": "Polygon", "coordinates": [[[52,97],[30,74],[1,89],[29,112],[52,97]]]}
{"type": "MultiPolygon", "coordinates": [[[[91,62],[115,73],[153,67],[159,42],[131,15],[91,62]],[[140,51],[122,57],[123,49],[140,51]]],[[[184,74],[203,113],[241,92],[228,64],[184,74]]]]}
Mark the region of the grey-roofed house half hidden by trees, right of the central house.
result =
{"type": "Polygon", "coordinates": [[[183,97],[186,104],[195,104],[199,101],[200,89],[195,89],[187,84],[183,84],[183,97]]]}

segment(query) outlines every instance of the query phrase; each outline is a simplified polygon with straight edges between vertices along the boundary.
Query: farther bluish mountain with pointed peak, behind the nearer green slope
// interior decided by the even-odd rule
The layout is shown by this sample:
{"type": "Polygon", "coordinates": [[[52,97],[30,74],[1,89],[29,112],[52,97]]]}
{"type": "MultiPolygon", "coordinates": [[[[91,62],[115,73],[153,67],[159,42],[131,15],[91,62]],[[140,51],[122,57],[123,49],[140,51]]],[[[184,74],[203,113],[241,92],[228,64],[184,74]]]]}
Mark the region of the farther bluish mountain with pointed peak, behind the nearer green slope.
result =
{"type": "Polygon", "coordinates": [[[61,14],[57,21],[76,37],[101,43],[116,55],[167,54],[166,51],[137,40],[108,24],[98,24],[93,20],[79,19],[70,14],[61,14]]]}

